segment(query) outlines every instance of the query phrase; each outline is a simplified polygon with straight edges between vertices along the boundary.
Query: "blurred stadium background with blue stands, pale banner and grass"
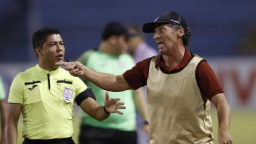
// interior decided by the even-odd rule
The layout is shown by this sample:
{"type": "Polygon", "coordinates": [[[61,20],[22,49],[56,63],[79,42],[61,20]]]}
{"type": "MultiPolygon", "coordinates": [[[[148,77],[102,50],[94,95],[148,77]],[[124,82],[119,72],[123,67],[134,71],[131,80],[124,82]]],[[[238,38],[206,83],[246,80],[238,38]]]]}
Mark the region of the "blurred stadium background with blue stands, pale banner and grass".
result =
{"type": "MultiPolygon", "coordinates": [[[[175,10],[193,31],[190,51],[212,65],[232,106],[230,132],[235,144],[256,143],[256,1],[0,1],[0,75],[6,92],[13,77],[35,65],[32,33],[43,26],[62,32],[66,57],[76,60],[97,47],[102,26],[111,20],[125,25],[151,22],[175,10]]],[[[156,47],[152,35],[147,42],[156,47]]],[[[217,140],[218,118],[212,109],[217,140]]],[[[74,121],[79,131],[79,117],[74,121]]],[[[21,141],[21,137],[19,137],[21,141]]],[[[217,141],[215,141],[217,143],[217,141]]]]}

